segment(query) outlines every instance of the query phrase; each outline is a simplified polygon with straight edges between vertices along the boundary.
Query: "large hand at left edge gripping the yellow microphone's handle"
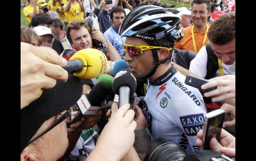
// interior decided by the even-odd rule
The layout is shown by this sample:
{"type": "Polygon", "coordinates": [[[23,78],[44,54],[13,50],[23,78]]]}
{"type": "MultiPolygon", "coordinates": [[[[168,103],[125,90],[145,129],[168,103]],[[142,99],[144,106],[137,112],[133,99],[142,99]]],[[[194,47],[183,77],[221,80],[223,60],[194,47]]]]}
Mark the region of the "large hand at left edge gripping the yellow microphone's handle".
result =
{"type": "Polygon", "coordinates": [[[20,49],[22,109],[38,99],[43,89],[53,88],[56,79],[66,81],[68,73],[62,68],[66,65],[66,60],[54,49],[25,42],[21,42],[20,49]]]}

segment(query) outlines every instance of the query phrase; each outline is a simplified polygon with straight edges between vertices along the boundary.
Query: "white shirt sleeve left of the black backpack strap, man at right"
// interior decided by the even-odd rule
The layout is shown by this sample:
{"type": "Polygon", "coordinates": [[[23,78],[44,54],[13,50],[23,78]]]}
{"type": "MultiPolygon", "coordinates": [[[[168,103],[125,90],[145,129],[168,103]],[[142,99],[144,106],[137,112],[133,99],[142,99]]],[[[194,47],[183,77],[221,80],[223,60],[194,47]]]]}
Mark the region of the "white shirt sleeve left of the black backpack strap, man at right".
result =
{"type": "Polygon", "coordinates": [[[204,78],[207,74],[207,52],[205,45],[199,50],[195,58],[190,62],[189,70],[204,78]]]}

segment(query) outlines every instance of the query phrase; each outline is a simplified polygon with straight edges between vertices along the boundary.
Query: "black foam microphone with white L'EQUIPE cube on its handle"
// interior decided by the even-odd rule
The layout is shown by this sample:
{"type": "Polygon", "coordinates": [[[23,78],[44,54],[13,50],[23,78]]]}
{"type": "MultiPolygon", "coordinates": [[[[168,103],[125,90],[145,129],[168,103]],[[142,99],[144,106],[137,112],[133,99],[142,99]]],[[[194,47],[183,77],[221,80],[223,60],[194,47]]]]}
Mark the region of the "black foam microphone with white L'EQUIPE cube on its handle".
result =
{"type": "Polygon", "coordinates": [[[79,111],[75,114],[75,120],[68,123],[67,127],[79,121],[84,115],[94,115],[101,108],[101,103],[107,97],[108,92],[108,85],[105,82],[99,82],[92,87],[89,94],[82,95],[76,103],[79,111]]]}

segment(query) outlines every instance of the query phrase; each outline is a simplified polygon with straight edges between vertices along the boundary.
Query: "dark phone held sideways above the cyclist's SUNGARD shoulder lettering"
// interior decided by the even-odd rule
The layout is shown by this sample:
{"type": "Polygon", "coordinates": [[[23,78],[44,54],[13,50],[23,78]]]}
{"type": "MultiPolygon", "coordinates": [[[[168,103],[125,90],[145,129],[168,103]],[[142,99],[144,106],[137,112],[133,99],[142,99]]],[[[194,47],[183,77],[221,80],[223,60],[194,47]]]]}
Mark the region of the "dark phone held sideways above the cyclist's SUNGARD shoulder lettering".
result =
{"type": "Polygon", "coordinates": [[[207,88],[207,89],[201,89],[201,85],[203,85],[205,83],[208,83],[208,81],[205,81],[201,78],[197,78],[197,77],[192,76],[192,75],[187,75],[187,77],[185,79],[185,84],[187,84],[189,86],[192,86],[192,87],[195,87],[199,90],[210,92],[210,91],[213,91],[213,90],[217,89],[217,86],[212,87],[212,88],[207,88]]]}

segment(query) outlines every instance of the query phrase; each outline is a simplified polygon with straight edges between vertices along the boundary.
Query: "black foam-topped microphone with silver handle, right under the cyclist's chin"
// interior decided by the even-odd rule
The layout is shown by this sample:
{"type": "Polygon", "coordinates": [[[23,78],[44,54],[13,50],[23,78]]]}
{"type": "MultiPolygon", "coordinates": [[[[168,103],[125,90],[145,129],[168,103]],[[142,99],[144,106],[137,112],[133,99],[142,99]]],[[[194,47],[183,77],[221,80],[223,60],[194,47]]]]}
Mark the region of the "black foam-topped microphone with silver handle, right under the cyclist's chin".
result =
{"type": "Polygon", "coordinates": [[[119,107],[130,102],[136,89],[136,78],[128,69],[120,70],[112,82],[112,90],[119,95],[119,107]]]}

